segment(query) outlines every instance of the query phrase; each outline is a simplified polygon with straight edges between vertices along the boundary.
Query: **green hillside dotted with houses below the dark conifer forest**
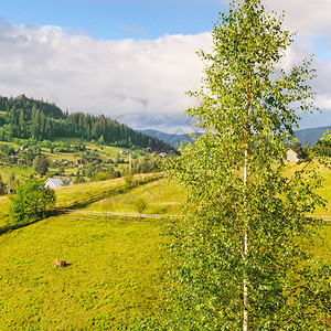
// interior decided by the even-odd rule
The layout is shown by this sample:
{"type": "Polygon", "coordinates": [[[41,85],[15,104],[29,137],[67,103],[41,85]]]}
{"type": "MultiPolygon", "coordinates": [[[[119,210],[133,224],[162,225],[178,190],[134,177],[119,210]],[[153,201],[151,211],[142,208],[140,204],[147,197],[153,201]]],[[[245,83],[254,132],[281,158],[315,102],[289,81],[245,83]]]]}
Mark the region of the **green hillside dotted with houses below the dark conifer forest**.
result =
{"type": "MultiPolygon", "coordinates": [[[[157,154],[151,154],[138,146],[131,147],[130,151],[131,164],[136,172],[154,171],[156,164],[160,162],[157,154]]],[[[128,149],[125,148],[81,139],[32,142],[20,139],[17,142],[0,141],[2,181],[8,184],[11,174],[11,189],[14,189],[18,183],[26,181],[30,177],[40,178],[40,173],[33,169],[33,160],[40,153],[46,156],[50,163],[47,173],[42,177],[45,180],[50,177],[68,177],[76,182],[79,172],[79,179],[85,182],[99,181],[124,175],[129,170],[130,158],[128,149]]]]}

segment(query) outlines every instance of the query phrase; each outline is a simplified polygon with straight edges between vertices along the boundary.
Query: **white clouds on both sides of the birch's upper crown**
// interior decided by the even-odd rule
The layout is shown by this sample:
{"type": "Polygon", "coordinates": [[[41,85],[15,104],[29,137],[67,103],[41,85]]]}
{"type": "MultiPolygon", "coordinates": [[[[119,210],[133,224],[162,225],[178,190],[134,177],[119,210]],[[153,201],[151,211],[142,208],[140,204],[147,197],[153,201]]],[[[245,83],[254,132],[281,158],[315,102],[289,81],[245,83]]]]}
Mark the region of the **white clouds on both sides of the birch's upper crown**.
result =
{"type": "MultiPolygon", "coordinates": [[[[331,1],[265,3],[278,13],[285,10],[286,26],[299,31],[284,62],[286,68],[317,53],[311,36],[325,38],[325,49],[330,47],[331,1]]],[[[174,132],[189,121],[181,114],[192,103],[184,92],[200,85],[203,63],[195,52],[211,51],[209,33],[164,35],[152,41],[96,41],[73,33],[58,26],[0,21],[0,94],[25,94],[71,111],[104,113],[134,128],[174,132]]],[[[317,54],[318,78],[312,84],[317,105],[331,114],[331,61],[317,54]]]]}

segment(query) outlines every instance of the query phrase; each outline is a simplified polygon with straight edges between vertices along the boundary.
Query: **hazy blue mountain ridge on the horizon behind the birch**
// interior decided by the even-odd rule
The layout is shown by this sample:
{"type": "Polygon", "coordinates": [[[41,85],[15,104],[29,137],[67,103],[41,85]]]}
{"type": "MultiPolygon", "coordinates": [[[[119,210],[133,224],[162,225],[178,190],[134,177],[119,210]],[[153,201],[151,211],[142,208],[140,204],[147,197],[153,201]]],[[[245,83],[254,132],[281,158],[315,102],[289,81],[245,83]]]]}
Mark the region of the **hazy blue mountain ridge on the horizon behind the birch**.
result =
{"type": "MultiPolygon", "coordinates": [[[[306,147],[308,143],[311,146],[316,145],[317,141],[325,134],[327,130],[331,130],[331,126],[319,127],[319,128],[309,128],[296,130],[295,135],[301,146],[306,147]]],[[[158,130],[140,130],[145,135],[150,135],[158,139],[169,142],[171,146],[177,147],[185,141],[192,141],[190,134],[166,134],[158,130]]],[[[195,136],[201,136],[200,132],[194,132],[195,136]]]]}

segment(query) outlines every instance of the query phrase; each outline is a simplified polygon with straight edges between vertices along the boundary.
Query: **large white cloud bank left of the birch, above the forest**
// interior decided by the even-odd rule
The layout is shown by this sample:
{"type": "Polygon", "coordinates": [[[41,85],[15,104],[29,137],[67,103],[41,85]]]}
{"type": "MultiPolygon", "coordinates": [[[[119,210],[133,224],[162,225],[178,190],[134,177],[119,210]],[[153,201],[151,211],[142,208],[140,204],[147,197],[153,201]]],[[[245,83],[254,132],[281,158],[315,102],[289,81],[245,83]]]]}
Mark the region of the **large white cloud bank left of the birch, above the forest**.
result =
{"type": "Polygon", "coordinates": [[[178,115],[202,75],[200,47],[211,36],[96,41],[58,26],[0,24],[0,89],[55,102],[72,111],[104,113],[139,127],[139,117],[178,115]],[[137,116],[134,116],[138,114],[137,116]],[[137,122],[135,122],[135,118],[137,122]],[[131,120],[130,120],[131,119],[131,120]]]}

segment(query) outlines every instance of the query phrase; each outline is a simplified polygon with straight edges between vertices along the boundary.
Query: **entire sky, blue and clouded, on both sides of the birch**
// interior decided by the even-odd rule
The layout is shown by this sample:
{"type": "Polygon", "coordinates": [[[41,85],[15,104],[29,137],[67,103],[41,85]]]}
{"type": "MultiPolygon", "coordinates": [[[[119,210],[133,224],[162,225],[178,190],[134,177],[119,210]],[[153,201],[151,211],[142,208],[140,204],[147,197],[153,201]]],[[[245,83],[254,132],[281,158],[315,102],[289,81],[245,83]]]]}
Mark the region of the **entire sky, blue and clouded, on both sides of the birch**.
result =
{"type": "MultiPolygon", "coordinates": [[[[298,31],[285,67],[316,54],[312,82],[331,125],[331,1],[264,0],[298,31]]],[[[0,0],[0,94],[43,98],[63,110],[104,114],[135,129],[192,131],[182,111],[199,88],[212,22],[227,0],[0,0]]]]}

